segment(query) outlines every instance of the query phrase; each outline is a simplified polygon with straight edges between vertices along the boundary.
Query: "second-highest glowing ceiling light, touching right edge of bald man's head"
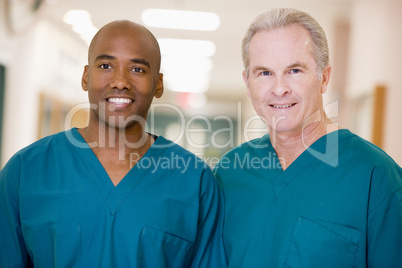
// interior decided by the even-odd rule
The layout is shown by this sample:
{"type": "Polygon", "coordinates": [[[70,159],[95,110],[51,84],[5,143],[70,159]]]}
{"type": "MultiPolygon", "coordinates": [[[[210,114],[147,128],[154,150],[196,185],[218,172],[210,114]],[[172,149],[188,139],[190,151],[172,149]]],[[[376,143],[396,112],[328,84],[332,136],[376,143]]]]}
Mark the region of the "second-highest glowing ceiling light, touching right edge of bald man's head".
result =
{"type": "Polygon", "coordinates": [[[216,52],[213,42],[207,40],[159,38],[162,55],[211,57],[216,52]]]}

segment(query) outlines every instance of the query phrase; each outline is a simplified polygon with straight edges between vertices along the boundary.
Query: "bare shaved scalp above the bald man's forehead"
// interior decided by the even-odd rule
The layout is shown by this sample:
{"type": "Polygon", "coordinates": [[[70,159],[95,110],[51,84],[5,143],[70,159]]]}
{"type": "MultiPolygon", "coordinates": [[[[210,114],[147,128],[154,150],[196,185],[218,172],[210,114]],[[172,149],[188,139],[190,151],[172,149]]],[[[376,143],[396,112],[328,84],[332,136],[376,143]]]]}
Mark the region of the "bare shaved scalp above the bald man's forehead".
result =
{"type": "Polygon", "coordinates": [[[158,41],[155,36],[144,26],[130,20],[116,20],[103,26],[94,36],[89,45],[88,64],[93,61],[93,52],[95,47],[100,42],[106,42],[108,39],[115,36],[131,36],[138,42],[148,43],[148,47],[152,49],[152,54],[155,55],[157,70],[160,69],[161,54],[158,41]]]}

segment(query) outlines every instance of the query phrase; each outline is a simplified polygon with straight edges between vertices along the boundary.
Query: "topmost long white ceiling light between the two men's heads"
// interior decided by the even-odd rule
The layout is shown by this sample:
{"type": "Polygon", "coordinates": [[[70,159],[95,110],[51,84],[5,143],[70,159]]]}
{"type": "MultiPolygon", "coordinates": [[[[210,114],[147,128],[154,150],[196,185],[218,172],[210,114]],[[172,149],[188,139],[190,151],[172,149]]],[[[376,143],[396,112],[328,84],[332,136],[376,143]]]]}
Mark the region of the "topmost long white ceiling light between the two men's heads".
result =
{"type": "Polygon", "coordinates": [[[220,24],[219,16],[212,12],[146,9],[141,18],[150,27],[182,30],[215,31],[220,24]]]}

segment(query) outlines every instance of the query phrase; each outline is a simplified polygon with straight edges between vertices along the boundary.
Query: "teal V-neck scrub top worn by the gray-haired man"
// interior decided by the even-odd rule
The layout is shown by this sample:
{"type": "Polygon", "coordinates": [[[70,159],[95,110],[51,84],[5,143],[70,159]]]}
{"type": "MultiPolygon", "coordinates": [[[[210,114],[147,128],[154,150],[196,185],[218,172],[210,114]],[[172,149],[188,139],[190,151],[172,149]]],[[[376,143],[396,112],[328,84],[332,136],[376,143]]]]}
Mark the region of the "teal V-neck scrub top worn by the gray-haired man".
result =
{"type": "Polygon", "coordinates": [[[402,169],[348,130],[285,171],[269,135],[214,170],[229,267],[402,267],[402,169]]]}

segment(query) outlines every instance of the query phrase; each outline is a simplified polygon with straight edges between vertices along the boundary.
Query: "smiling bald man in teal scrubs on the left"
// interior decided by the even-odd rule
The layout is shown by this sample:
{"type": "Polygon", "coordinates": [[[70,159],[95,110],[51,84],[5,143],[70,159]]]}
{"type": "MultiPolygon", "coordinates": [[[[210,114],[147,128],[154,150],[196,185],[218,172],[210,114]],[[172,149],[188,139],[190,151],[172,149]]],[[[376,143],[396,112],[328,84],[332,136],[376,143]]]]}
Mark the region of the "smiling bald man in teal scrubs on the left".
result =
{"type": "Polygon", "coordinates": [[[155,37],[115,21],[94,37],[89,123],[0,172],[0,267],[225,267],[222,193],[194,154],[145,132],[163,94],[155,37]]]}

